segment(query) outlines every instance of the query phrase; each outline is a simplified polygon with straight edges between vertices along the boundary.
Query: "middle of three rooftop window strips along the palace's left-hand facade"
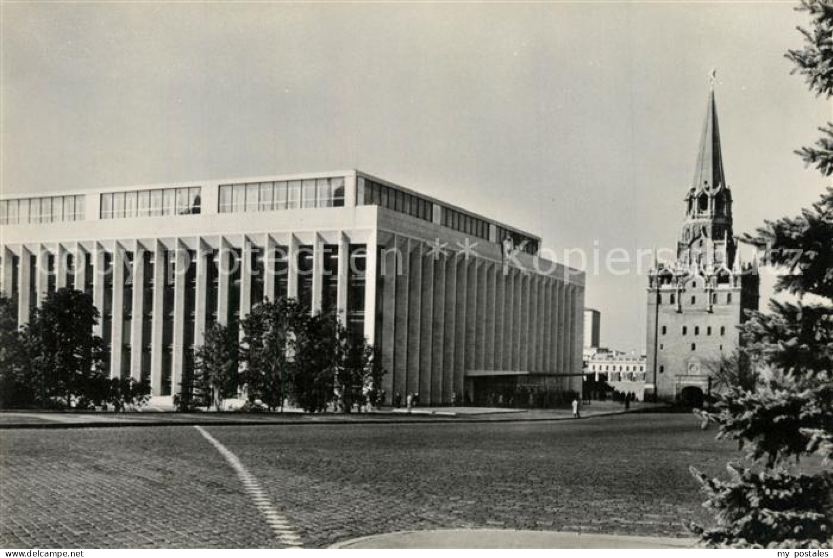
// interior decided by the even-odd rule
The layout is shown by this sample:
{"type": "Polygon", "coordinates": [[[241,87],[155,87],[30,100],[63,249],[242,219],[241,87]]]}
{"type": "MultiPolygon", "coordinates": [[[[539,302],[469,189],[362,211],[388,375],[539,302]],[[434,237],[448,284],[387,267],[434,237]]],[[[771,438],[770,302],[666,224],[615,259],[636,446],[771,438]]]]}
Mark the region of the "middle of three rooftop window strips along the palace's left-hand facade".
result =
{"type": "Polygon", "coordinates": [[[159,188],[101,195],[102,219],[199,215],[200,187],[159,188]]]}

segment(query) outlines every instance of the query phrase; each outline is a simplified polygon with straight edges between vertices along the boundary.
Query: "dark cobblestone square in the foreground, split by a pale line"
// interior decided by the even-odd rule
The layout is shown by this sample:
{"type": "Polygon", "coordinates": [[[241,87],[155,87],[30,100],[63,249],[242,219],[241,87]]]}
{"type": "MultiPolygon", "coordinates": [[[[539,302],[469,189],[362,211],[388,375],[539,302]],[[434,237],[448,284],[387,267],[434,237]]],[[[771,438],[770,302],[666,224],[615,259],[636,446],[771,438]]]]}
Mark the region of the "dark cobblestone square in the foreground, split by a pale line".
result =
{"type": "MultiPolygon", "coordinates": [[[[688,466],[738,454],[688,415],[207,426],[305,546],[450,527],[687,536],[688,466]]],[[[4,431],[0,546],[279,546],[191,426],[4,431]]]]}

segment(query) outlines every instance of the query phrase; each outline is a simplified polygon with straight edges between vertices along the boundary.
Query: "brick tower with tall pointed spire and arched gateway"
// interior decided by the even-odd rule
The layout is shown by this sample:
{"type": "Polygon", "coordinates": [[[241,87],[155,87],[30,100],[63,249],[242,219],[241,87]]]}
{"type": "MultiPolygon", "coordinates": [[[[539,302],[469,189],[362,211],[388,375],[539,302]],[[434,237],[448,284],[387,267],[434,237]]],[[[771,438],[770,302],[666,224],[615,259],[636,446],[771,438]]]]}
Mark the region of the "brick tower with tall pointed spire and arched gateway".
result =
{"type": "Polygon", "coordinates": [[[738,326],[759,296],[758,276],[736,261],[713,90],[684,201],[676,262],[649,275],[647,373],[658,399],[695,402],[709,389],[711,362],[741,342],[738,326]]]}

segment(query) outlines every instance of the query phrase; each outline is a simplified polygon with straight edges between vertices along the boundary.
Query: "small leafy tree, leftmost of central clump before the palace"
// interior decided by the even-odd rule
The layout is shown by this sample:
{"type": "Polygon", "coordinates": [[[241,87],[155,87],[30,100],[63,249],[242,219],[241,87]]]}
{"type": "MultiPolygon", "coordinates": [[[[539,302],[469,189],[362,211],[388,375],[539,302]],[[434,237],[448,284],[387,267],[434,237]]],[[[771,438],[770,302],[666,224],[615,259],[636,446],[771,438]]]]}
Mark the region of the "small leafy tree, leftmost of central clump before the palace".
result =
{"type": "Polygon", "coordinates": [[[217,411],[222,411],[222,401],[237,387],[239,360],[237,332],[219,323],[208,327],[203,345],[197,347],[194,369],[217,411]]]}

